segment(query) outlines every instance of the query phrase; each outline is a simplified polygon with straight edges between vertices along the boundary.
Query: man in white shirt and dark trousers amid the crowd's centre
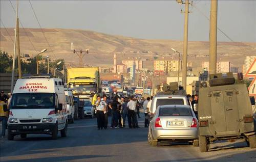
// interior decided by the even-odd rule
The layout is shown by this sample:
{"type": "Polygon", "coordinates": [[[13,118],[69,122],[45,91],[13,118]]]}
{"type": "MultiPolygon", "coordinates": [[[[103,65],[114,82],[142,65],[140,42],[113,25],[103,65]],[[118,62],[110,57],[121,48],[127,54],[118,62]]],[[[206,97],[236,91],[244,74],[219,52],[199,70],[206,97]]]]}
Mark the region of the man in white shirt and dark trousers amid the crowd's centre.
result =
{"type": "Polygon", "coordinates": [[[127,103],[128,107],[128,124],[129,128],[136,128],[135,118],[136,118],[136,102],[133,100],[133,97],[130,97],[130,101],[127,103]]]}

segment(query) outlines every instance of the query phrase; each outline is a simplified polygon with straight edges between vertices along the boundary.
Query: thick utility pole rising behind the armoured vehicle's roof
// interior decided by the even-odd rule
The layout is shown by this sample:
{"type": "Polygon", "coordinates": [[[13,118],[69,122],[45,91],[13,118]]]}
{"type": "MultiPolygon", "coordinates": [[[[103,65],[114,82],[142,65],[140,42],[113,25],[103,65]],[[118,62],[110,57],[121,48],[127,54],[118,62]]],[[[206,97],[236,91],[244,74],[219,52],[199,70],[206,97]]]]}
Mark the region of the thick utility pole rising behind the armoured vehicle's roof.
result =
{"type": "Polygon", "coordinates": [[[209,49],[209,74],[216,73],[217,64],[217,14],[218,1],[211,0],[210,5],[210,49],[209,49]]]}

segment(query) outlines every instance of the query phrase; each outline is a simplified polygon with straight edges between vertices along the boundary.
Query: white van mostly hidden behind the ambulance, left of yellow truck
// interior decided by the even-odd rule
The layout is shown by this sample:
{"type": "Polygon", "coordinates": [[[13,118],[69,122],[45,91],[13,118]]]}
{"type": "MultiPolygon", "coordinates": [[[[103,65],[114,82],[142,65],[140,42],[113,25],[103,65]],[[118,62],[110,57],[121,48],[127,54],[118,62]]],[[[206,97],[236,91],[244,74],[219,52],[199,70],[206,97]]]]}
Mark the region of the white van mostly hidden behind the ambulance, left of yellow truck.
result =
{"type": "Polygon", "coordinates": [[[75,117],[75,103],[72,94],[73,89],[65,88],[66,103],[67,103],[67,114],[69,123],[74,123],[75,117]]]}

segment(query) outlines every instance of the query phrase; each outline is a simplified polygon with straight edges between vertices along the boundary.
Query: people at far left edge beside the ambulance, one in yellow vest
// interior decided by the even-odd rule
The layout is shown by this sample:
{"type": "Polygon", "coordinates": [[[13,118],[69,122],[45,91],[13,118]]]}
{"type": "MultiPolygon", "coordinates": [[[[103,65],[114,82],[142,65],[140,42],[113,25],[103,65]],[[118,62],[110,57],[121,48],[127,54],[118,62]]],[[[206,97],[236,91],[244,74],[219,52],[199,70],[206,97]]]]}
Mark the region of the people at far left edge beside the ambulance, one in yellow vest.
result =
{"type": "Polygon", "coordinates": [[[5,137],[5,130],[7,128],[7,121],[9,117],[9,104],[11,101],[11,93],[9,93],[9,96],[7,96],[4,91],[1,91],[0,96],[0,122],[2,122],[2,132],[1,137],[5,137]],[[6,106],[5,106],[6,105],[6,106]]]}

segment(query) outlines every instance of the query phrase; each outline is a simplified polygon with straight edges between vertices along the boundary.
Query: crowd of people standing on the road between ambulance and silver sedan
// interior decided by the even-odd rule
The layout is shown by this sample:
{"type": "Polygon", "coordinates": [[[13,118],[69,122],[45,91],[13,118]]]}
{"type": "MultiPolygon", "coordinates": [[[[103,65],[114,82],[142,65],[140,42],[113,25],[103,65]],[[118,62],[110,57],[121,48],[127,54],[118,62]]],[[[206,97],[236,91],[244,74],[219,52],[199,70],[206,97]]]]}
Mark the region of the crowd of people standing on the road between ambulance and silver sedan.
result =
{"type": "Polygon", "coordinates": [[[140,107],[143,106],[145,113],[145,127],[148,127],[148,102],[150,97],[144,101],[144,98],[140,97],[119,97],[113,98],[106,95],[97,96],[96,101],[96,116],[98,129],[108,128],[108,116],[111,115],[111,128],[123,128],[125,127],[126,118],[128,120],[129,128],[139,128],[138,118],[140,117],[140,107]],[[145,106],[146,105],[146,106],[145,106]]]}

